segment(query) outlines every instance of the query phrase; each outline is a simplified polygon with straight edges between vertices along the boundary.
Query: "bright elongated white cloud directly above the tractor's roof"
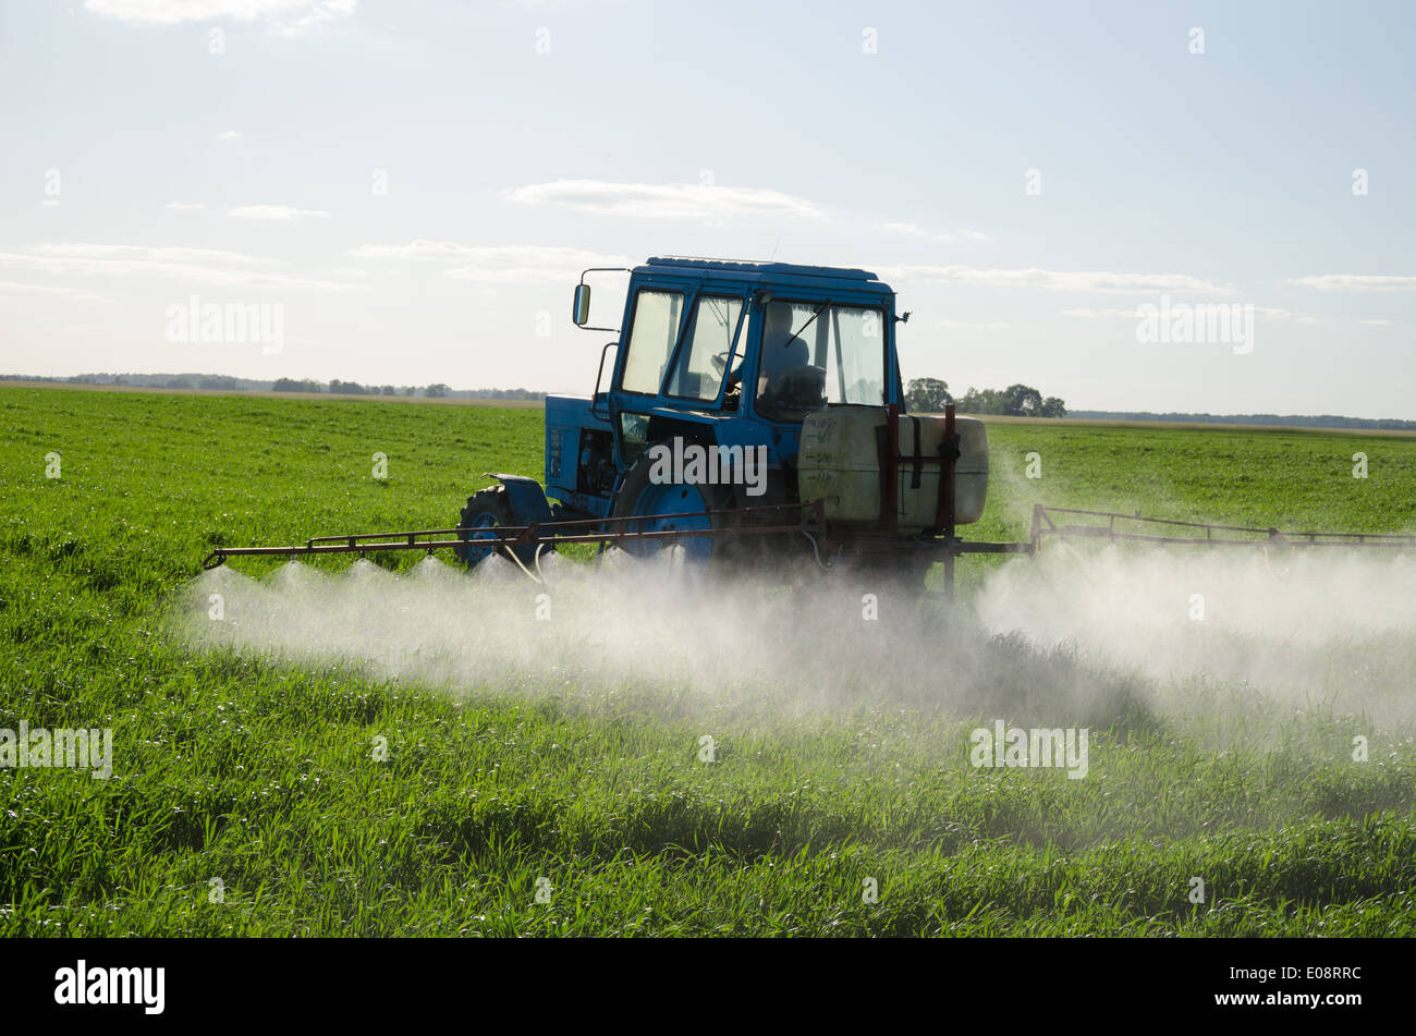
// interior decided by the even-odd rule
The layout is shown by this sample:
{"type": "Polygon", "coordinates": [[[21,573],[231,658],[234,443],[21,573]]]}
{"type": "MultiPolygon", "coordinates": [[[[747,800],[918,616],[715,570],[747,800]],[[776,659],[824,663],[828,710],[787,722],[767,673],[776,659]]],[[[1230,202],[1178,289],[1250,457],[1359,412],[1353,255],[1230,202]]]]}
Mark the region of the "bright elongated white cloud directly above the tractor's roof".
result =
{"type": "Polygon", "coordinates": [[[504,191],[527,205],[559,205],[598,215],[643,219],[728,219],[732,217],[799,217],[826,214],[806,198],[759,187],[701,184],[613,184],[603,180],[556,180],[504,191]]]}

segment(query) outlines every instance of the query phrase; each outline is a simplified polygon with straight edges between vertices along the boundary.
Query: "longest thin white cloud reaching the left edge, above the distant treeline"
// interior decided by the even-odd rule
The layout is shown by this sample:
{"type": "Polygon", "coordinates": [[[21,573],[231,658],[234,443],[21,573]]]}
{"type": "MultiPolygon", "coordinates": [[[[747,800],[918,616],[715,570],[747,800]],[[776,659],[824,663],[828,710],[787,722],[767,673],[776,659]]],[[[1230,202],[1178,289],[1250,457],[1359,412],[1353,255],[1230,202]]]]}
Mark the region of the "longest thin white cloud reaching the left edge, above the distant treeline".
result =
{"type": "Polygon", "coordinates": [[[347,292],[350,283],[290,276],[268,259],[210,248],[150,245],[41,245],[0,252],[0,267],[61,277],[149,276],[200,284],[347,292]]]}

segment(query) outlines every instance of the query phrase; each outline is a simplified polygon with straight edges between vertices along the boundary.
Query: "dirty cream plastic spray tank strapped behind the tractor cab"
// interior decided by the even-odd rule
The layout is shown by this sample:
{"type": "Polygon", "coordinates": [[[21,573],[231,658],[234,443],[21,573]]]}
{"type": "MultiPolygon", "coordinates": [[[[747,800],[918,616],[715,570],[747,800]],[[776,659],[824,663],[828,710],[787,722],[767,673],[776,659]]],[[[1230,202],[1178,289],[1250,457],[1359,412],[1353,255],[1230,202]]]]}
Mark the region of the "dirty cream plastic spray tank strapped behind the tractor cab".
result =
{"type": "MultiPolygon", "coordinates": [[[[831,406],[801,423],[797,488],[804,502],[823,501],[826,519],[881,525],[879,437],[884,406],[831,406]]],[[[988,497],[988,433],[977,418],[954,418],[959,461],[954,467],[954,521],[976,522],[988,497]]],[[[944,415],[899,415],[901,456],[940,456],[944,415]]],[[[898,529],[920,532],[943,525],[939,515],[939,464],[902,463],[896,484],[898,529]]]]}

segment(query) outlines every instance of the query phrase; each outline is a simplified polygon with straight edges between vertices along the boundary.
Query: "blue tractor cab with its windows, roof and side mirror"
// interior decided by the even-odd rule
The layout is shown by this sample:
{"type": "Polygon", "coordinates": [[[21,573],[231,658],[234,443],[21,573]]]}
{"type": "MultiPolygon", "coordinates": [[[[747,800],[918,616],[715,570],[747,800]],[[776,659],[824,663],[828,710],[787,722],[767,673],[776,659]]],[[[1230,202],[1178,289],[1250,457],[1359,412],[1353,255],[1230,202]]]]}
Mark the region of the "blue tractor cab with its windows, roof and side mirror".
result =
{"type": "MultiPolygon", "coordinates": [[[[551,456],[556,446],[564,454],[571,432],[562,429],[558,443],[549,439],[554,412],[569,419],[573,408],[581,418],[592,416],[607,436],[600,439],[599,470],[607,460],[619,477],[656,443],[765,447],[772,497],[787,500],[796,493],[809,413],[901,402],[895,294],[874,273],[685,258],[653,258],[627,273],[620,326],[592,328],[619,335],[602,351],[595,395],[588,405],[564,396],[547,401],[548,487],[561,488],[569,474],[552,477],[551,456]]],[[[573,306],[578,326],[588,327],[589,307],[590,286],[582,275],[573,306]]],[[[578,477],[573,505],[606,514],[602,507],[613,493],[602,497],[602,507],[589,505],[585,481],[578,477]]]]}

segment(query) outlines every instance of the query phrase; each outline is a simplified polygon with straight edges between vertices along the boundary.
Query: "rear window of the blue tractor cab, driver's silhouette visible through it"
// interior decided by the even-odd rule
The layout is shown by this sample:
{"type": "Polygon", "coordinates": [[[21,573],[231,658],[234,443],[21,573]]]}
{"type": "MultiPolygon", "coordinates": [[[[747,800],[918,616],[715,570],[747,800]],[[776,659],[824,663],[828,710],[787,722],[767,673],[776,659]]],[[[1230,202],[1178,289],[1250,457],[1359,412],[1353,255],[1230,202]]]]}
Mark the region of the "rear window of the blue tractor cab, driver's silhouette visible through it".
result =
{"type": "Polygon", "coordinates": [[[758,412],[800,420],[830,403],[885,402],[885,314],[835,303],[773,301],[762,326],[758,412]]]}

